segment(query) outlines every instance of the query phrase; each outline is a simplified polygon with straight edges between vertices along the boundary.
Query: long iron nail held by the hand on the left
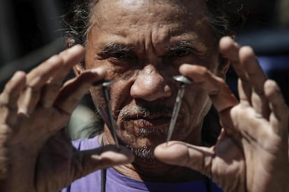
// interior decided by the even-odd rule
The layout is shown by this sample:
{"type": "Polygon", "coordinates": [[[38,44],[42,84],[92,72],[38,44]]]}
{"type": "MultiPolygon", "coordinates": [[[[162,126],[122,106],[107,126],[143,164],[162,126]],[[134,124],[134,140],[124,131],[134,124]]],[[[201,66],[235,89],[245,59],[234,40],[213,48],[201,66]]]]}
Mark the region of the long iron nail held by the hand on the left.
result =
{"type": "Polygon", "coordinates": [[[115,145],[117,145],[117,150],[119,150],[119,140],[117,139],[117,129],[114,123],[114,118],[112,115],[112,107],[110,106],[110,94],[108,93],[108,86],[112,84],[112,81],[104,81],[101,83],[103,88],[103,95],[105,97],[105,104],[108,109],[108,118],[110,119],[110,127],[112,128],[112,136],[114,138],[115,145]]]}

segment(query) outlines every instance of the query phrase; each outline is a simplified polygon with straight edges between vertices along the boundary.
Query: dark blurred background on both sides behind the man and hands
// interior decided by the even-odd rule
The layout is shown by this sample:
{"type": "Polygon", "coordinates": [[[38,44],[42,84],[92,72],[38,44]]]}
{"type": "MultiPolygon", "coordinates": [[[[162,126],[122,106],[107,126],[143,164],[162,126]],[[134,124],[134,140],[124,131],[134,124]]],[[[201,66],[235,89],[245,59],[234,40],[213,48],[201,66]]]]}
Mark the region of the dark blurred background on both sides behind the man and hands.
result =
{"type": "MultiPolygon", "coordinates": [[[[28,71],[65,48],[59,16],[69,0],[0,1],[0,89],[16,70],[28,71]]],[[[251,45],[267,75],[275,79],[289,101],[289,1],[244,0],[246,24],[237,33],[241,45],[251,45]]],[[[230,70],[228,83],[236,91],[230,70]]]]}

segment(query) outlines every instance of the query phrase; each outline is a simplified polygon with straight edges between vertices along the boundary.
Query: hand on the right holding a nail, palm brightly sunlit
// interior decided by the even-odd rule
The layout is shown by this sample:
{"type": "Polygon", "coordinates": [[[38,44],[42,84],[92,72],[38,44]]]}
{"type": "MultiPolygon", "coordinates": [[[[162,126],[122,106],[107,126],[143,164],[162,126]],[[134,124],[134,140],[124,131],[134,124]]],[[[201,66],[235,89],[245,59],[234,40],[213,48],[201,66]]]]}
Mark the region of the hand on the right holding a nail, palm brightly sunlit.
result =
{"type": "Polygon", "coordinates": [[[239,76],[239,102],[225,81],[205,67],[180,67],[181,74],[207,91],[218,110],[223,129],[216,145],[172,141],[156,147],[156,157],[198,170],[225,191],[289,191],[289,110],[281,90],[267,80],[250,47],[226,37],[220,49],[239,76]]]}

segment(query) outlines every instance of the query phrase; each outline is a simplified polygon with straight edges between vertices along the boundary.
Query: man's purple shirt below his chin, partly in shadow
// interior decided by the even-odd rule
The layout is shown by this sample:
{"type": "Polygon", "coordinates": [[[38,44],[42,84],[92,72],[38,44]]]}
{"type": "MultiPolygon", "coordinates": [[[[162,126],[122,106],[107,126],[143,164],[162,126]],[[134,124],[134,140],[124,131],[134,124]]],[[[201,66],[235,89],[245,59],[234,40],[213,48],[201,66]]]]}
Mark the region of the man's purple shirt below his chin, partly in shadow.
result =
{"type": "MultiPolygon", "coordinates": [[[[89,150],[99,147],[98,136],[91,139],[81,139],[73,141],[73,145],[78,150],[89,150]]],[[[212,191],[222,191],[213,182],[211,183],[212,191]]],[[[155,183],[143,182],[132,179],[117,173],[113,168],[108,168],[106,175],[107,192],[131,191],[208,191],[205,181],[181,182],[181,183],[155,183]]],[[[100,192],[101,191],[101,171],[98,170],[85,177],[75,180],[71,185],[62,189],[62,192],[100,192]]]]}

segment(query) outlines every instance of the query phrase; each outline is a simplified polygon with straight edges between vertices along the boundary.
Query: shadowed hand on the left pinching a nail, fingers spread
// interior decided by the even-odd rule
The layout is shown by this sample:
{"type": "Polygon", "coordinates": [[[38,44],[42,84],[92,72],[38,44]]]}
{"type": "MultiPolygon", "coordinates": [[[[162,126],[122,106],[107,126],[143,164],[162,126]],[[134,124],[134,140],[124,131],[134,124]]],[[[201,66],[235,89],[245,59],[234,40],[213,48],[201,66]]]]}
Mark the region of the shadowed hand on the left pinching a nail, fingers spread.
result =
{"type": "Polygon", "coordinates": [[[122,147],[79,152],[64,133],[82,96],[106,74],[89,70],[63,84],[83,57],[77,45],[28,74],[16,72],[6,84],[0,95],[0,191],[57,191],[96,169],[133,160],[122,147]]]}

